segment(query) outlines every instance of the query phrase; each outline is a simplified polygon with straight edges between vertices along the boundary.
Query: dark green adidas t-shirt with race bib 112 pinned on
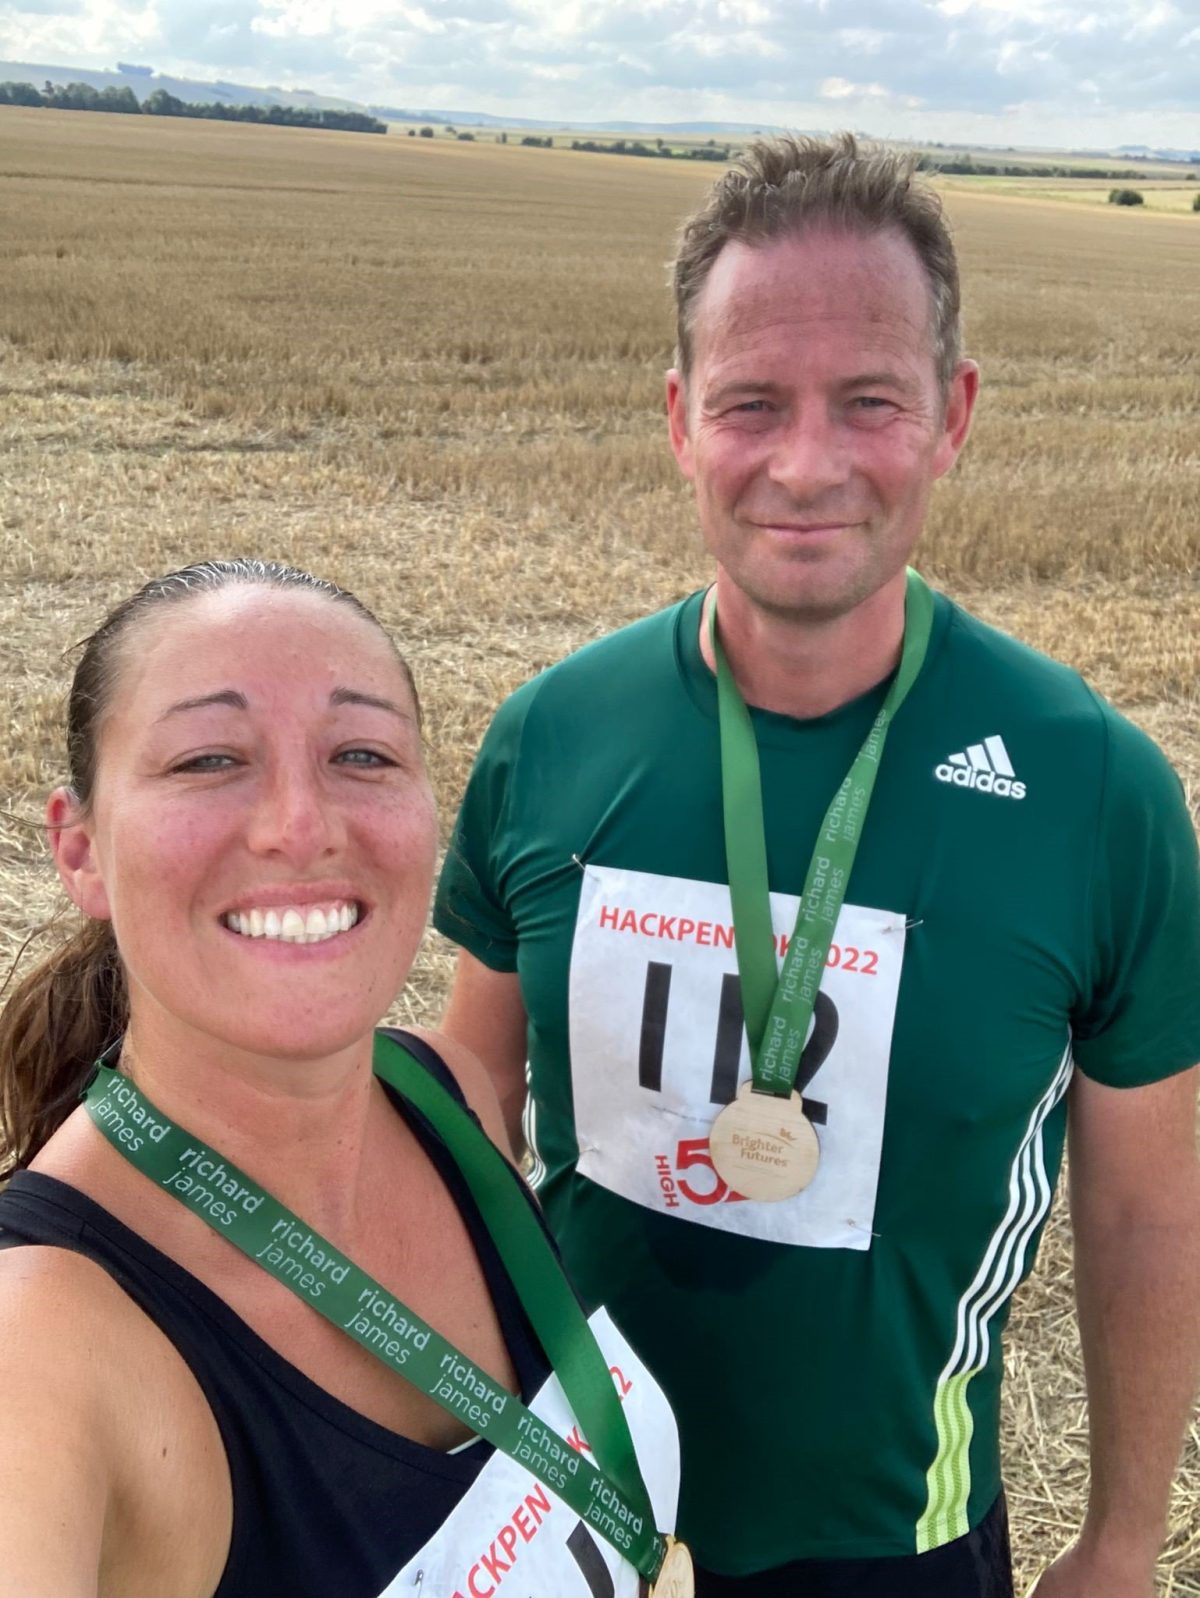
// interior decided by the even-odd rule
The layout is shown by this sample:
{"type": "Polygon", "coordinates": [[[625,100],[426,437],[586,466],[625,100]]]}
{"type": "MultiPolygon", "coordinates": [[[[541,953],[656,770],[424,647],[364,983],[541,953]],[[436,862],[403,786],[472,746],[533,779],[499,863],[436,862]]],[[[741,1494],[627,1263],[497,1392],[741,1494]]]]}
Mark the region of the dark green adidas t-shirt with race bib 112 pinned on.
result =
{"type": "MultiPolygon", "coordinates": [[[[1072,1064],[1200,1058],[1195,836],[1149,738],[938,596],[801,1064],[821,1163],[740,1202],[706,1160],[749,1058],[700,602],[500,708],[435,920],[521,975],[546,1216],[674,1405],[701,1564],[924,1552],[1000,1489],[1000,1333],[1072,1064]]],[[[780,938],[882,695],[753,713],[780,938]]]]}

